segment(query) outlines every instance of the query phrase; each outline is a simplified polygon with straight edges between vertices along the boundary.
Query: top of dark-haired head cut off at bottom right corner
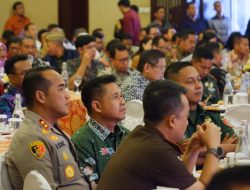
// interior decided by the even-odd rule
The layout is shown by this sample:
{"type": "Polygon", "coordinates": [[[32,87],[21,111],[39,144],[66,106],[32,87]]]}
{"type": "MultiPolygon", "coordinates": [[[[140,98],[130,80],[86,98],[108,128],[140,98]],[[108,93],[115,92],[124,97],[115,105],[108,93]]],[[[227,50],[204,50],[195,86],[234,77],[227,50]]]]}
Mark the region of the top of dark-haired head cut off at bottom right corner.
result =
{"type": "Polygon", "coordinates": [[[250,166],[236,166],[221,170],[215,174],[206,190],[231,190],[233,187],[250,187],[250,166]]]}

